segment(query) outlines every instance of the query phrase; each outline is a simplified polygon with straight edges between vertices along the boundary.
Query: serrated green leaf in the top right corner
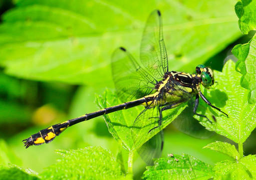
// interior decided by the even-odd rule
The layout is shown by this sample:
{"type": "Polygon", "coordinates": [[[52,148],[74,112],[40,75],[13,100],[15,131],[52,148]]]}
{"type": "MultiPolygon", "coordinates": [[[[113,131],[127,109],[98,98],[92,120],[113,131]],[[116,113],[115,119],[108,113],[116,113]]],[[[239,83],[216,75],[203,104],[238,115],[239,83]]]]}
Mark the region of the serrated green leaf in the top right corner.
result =
{"type": "Polygon", "coordinates": [[[238,20],[238,25],[243,34],[247,34],[250,30],[256,28],[256,1],[241,0],[234,6],[238,20]]]}

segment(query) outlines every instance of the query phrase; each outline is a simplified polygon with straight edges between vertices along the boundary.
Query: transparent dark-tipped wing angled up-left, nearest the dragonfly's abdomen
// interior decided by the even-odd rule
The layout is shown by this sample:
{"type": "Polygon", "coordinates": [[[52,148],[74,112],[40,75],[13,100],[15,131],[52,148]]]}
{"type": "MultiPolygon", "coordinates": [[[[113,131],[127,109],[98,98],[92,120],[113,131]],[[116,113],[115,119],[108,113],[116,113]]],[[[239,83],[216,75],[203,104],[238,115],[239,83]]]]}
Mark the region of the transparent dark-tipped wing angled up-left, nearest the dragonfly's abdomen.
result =
{"type": "Polygon", "coordinates": [[[114,51],[111,67],[117,94],[122,101],[141,98],[154,90],[154,77],[125,48],[114,51]]]}

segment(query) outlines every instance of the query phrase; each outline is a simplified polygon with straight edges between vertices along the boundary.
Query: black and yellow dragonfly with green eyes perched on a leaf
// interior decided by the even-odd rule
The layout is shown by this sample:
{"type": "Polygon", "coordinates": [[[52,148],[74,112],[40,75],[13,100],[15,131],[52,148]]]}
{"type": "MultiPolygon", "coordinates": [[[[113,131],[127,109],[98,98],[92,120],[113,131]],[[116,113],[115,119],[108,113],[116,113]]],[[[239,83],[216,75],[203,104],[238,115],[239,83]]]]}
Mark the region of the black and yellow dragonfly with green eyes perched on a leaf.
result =
{"type": "MultiPolygon", "coordinates": [[[[201,97],[209,106],[228,116],[220,108],[212,105],[201,92],[200,84],[206,88],[214,84],[211,68],[199,64],[195,68],[195,74],[169,71],[159,10],[151,12],[147,19],[141,40],[140,61],[137,61],[124,47],[117,48],[111,60],[116,93],[124,103],[86,113],[42,129],[23,140],[26,148],[49,143],[66,128],[79,122],[138,105],[145,108],[133,122],[132,136],[134,141],[143,135],[140,127],[146,127],[148,133],[159,129],[163,122],[163,111],[178,107],[193,97],[195,97],[193,112],[196,115],[211,122],[206,115],[196,112],[201,97]]],[[[155,139],[159,137],[162,139],[162,131],[158,134],[160,136],[154,136],[155,139]]],[[[162,146],[163,141],[160,144],[161,149],[162,146]]]]}

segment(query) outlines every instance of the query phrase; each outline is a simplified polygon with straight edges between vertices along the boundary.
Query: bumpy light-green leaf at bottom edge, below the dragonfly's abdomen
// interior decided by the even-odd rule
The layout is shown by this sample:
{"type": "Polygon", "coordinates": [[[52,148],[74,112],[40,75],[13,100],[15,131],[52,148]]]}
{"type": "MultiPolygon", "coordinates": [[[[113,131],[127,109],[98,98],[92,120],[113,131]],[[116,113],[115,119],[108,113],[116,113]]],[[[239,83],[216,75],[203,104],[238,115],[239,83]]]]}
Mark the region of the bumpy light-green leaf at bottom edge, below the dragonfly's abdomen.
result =
{"type": "Polygon", "coordinates": [[[123,178],[120,164],[103,147],[58,150],[62,158],[40,175],[43,179],[117,179],[123,178]]]}

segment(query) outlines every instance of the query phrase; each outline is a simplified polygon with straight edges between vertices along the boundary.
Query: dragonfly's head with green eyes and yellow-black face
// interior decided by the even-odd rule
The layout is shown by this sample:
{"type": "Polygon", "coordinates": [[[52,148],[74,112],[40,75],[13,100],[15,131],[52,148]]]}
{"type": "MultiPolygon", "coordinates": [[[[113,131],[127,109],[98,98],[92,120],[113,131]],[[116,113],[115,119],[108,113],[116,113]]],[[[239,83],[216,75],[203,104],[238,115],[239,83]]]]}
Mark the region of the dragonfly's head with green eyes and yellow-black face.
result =
{"type": "Polygon", "coordinates": [[[209,87],[214,84],[214,76],[211,68],[199,64],[196,66],[195,70],[196,73],[200,75],[201,83],[204,87],[209,87]]]}

